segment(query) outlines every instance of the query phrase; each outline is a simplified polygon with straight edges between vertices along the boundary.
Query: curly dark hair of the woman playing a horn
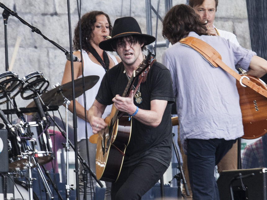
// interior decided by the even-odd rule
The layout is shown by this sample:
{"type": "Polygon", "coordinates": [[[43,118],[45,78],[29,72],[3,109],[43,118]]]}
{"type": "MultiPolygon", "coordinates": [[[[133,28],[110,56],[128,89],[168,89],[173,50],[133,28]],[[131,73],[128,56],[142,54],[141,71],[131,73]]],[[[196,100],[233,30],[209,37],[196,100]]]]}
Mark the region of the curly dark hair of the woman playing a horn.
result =
{"type": "MultiPolygon", "coordinates": [[[[96,22],[96,17],[98,15],[104,15],[106,16],[106,19],[109,24],[109,34],[111,34],[112,31],[112,25],[109,19],[109,16],[102,12],[102,11],[91,11],[88,13],[85,13],[81,17],[81,42],[82,42],[82,49],[85,51],[90,51],[93,47],[91,46],[90,39],[92,36],[92,32],[94,30],[94,24],[96,22]]],[[[74,51],[78,51],[80,49],[80,37],[79,37],[79,22],[75,27],[74,30],[74,38],[73,38],[73,49],[74,51]]]]}

